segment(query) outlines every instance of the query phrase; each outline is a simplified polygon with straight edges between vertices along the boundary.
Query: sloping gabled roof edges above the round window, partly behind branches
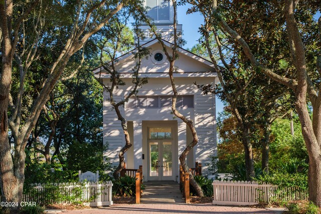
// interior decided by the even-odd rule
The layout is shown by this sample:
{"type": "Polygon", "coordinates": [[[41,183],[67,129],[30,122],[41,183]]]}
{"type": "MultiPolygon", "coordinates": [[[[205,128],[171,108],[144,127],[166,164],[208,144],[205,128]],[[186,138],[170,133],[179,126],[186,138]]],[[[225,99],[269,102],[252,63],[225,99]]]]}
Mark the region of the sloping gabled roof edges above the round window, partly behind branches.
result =
{"type": "MultiPolygon", "coordinates": [[[[174,45],[174,44],[172,44],[172,43],[170,43],[170,42],[168,42],[166,40],[162,39],[162,41],[169,48],[174,45]]],[[[148,48],[148,47],[150,47],[150,46],[152,46],[152,45],[154,45],[156,43],[158,43],[158,40],[157,39],[153,39],[153,40],[143,44],[142,46],[145,47],[145,48],[148,48]]],[[[134,53],[135,50],[136,49],[133,49],[133,50],[127,52],[126,54],[123,54],[120,57],[116,58],[115,60],[118,61],[118,62],[121,62],[121,61],[124,61],[124,60],[128,60],[129,57],[133,56],[133,53],[134,53]]],[[[200,56],[198,56],[196,54],[193,54],[192,52],[190,52],[190,51],[188,51],[188,50],[186,50],[184,48],[180,48],[179,47],[178,48],[178,52],[183,54],[183,55],[185,55],[185,56],[187,56],[187,57],[189,57],[189,58],[192,58],[192,59],[198,61],[199,63],[202,63],[204,66],[209,68],[209,72],[210,73],[215,73],[214,72],[214,65],[213,65],[212,62],[210,62],[210,61],[208,61],[208,60],[204,59],[203,57],[200,57],[200,56]]],[[[99,74],[103,74],[103,73],[106,73],[106,72],[104,72],[104,68],[102,66],[100,66],[100,67],[95,68],[93,70],[93,73],[97,75],[98,73],[99,74]]],[[[200,73],[200,72],[189,72],[189,73],[200,73]]]]}

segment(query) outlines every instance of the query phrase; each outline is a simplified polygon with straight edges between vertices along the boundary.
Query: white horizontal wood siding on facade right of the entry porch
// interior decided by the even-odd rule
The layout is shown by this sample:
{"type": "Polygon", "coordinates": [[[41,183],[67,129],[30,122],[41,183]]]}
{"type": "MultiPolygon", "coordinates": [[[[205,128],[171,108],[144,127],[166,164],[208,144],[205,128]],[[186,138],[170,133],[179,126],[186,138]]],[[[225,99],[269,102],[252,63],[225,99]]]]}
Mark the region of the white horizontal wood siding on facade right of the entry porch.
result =
{"type": "MultiPolygon", "coordinates": [[[[195,125],[199,137],[196,147],[196,161],[206,166],[209,155],[216,156],[216,116],[215,96],[195,95],[195,125]]],[[[206,173],[207,167],[203,167],[206,173]]]]}

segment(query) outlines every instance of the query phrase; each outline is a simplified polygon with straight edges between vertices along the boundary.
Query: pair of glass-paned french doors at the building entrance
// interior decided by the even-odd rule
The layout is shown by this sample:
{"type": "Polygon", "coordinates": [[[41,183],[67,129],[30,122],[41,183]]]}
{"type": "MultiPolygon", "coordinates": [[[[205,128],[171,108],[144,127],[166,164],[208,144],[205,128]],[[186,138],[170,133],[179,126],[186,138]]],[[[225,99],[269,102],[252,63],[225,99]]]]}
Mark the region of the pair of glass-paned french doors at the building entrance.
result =
{"type": "Polygon", "coordinates": [[[173,180],[173,141],[153,140],[148,142],[149,180],[173,180]]]}

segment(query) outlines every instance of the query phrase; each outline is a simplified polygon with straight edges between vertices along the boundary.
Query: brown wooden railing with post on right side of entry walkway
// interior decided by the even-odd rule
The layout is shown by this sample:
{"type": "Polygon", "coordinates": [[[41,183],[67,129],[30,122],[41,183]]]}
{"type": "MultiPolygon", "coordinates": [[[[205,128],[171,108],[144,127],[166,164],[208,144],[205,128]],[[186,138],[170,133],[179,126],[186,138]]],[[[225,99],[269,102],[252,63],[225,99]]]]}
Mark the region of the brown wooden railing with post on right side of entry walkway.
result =
{"type": "MultiPolygon", "coordinates": [[[[202,175],[202,163],[195,163],[195,168],[190,168],[193,176],[202,175]]],[[[190,173],[184,172],[180,165],[180,188],[185,198],[185,203],[190,203],[190,173]]]]}

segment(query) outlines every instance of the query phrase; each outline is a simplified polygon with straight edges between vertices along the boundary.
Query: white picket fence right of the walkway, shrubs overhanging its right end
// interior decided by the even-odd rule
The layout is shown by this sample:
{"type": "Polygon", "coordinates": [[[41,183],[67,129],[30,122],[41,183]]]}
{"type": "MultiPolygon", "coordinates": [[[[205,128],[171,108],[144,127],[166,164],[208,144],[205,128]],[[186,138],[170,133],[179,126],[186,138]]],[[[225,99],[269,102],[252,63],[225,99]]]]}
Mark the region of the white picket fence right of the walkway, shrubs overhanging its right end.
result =
{"type": "Polygon", "coordinates": [[[307,200],[307,190],[299,187],[279,189],[277,185],[258,184],[256,181],[220,181],[213,183],[213,204],[218,205],[254,205],[259,202],[270,202],[273,199],[307,200]]]}

